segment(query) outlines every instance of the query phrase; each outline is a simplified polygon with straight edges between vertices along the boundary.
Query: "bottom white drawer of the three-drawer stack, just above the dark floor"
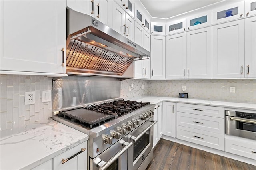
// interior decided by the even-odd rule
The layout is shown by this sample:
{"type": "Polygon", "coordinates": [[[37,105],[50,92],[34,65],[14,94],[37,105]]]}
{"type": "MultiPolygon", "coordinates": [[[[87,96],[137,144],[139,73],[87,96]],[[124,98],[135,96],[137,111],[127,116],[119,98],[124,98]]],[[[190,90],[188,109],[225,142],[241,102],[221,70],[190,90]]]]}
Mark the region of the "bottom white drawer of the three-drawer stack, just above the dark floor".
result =
{"type": "Polygon", "coordinates": [[[177,138],[224,151],[224,134],[177,126],[177,138]]]}

